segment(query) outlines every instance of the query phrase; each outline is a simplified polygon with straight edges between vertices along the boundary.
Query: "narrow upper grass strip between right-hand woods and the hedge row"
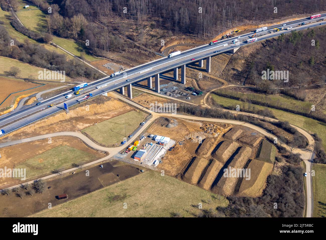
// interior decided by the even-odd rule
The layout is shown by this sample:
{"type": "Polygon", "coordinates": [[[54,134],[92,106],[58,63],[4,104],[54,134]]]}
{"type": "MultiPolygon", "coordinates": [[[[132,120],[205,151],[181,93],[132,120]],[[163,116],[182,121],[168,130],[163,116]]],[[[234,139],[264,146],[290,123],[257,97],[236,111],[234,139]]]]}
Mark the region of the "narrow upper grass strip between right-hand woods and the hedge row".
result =
{"type": "Polygon", "coordinates": [[[286,109],[302,110],[303,113],[308,113],[311,109],[312,103],[306,101],[299,101],[286,95],[267,95],[258,93],[243,93],[234,90],[219,89],[217,92],[227,94],[236,98],[243,98],[248,100],[255,100],[262,105],[268,103],[273,107],[283,107],[286,109]]]}

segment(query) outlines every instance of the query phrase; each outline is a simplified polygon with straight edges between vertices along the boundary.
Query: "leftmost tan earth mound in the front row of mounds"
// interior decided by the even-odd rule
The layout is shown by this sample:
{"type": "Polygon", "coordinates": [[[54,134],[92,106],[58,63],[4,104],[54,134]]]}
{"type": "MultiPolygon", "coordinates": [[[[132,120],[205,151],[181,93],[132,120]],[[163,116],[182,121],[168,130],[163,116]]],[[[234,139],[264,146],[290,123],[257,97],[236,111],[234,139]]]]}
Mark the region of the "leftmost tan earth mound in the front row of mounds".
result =
{"type": "Polygon", "coordinates": [[[207,164],[208,160],[205,158],[194,157],[189,163],[190,166],[188,165],[184,175],[182,176],[182,180],[190,184],[197,184],[201,173],[206,168],[207,164]]]}

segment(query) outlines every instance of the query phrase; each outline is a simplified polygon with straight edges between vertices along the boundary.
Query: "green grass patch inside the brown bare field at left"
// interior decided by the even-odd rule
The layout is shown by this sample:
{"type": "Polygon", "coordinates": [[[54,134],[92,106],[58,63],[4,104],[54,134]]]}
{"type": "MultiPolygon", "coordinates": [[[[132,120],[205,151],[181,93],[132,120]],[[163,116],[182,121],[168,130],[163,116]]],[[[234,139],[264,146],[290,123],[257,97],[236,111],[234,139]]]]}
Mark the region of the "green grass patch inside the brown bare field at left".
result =
{"type": "Polygon", "coordinates": [[[26,179],[37,178],[51,173],[54,169],[71,168],[72,163],[82,163],[96,160],[96,156],[82,150],[60,145],[28,158],[15,168],[26,168],[26,179]]]}

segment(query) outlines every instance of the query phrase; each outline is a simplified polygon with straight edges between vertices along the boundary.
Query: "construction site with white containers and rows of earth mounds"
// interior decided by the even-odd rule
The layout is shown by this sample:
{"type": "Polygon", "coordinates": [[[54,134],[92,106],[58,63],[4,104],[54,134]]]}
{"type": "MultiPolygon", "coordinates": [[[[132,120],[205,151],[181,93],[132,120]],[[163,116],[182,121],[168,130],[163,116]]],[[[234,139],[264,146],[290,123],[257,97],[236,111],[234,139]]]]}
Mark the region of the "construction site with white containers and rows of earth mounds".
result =
{"type": "Polygon", "coordinates": [[[251,128],[160,117],[119,158],[215,194],[257,197],[275,155],[276,148],[251,128]],[[226,169],[250,169],[250,176],[225,177],[226,169]]]}

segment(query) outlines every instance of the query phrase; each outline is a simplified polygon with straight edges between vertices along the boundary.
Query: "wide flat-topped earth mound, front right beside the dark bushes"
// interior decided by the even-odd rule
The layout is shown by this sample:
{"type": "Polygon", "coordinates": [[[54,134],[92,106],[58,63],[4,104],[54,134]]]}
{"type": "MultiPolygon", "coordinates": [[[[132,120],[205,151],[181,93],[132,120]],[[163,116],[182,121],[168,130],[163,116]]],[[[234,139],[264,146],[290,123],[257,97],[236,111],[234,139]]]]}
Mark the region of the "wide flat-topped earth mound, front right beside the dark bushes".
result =
{"type": "Polygon", "coordinates": [[[273,164],[252,160],[248,169],[250,169],[250,179],[242,180],[237,196],[259,197],[264,189],[267,176],[273,170],[273,164]]]}

